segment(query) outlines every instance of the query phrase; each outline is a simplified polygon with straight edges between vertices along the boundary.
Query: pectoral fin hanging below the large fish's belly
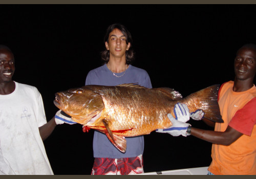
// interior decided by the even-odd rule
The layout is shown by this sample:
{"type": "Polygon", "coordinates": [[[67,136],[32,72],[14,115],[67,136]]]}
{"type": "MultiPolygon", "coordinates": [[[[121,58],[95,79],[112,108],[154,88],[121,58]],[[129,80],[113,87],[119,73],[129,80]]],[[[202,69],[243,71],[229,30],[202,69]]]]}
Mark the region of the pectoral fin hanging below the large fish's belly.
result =
{"type": "Polygon", "coordinates": [[[106,127],[106,130],[108,132],[105,132],[106,137],[110,140],[110,142],[121,152],[126,151],[126,139],[123,136],[115,135],[109,128],[109,122],[105,119],[102,120],[104,126],[106,127]]]}

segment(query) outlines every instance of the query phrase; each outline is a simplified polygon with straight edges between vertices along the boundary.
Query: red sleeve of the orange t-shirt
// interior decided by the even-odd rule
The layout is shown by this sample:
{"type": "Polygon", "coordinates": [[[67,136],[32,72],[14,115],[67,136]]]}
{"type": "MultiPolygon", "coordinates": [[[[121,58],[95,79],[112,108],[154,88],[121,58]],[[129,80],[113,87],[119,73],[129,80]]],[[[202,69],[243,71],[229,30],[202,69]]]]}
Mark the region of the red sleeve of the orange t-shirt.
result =
{"type": "Polygon", "coordinates": [[[250,136],[256,124],[256,98],[252,98],[242,109],[239,109],[229,122],[229,126],[244,135],[250,136]]]}

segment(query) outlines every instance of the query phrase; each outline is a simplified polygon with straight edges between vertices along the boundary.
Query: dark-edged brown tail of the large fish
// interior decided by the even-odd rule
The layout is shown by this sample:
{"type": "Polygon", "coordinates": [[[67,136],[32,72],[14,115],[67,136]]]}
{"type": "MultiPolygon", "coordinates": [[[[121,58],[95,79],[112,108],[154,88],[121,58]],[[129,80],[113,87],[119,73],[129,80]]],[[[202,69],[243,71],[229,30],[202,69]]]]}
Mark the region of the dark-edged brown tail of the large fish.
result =
{"type": "Polygon", "coordinates": [[[202,109],[204,111],[204,118],[223,123],[223,119],[220,113],[220,107],[218,104],[218,92],[220,85],[212,85],[201,89],[200,91],[193,93],[184,98],[185,104],[190,111],[202,109]]]}

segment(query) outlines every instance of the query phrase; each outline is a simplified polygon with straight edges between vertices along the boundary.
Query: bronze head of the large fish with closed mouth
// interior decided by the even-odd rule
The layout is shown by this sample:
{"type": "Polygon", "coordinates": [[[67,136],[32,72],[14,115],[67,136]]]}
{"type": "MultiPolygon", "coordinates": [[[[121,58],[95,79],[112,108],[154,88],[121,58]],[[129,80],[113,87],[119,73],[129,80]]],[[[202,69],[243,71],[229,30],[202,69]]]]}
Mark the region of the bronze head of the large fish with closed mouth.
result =
{"type": "Polygon", "coordinates": [[[80,124],[87,124],[95,116],[99,118],[104,109],[100,94],[83,87],[56,93],[54,104],[80,124]]]}

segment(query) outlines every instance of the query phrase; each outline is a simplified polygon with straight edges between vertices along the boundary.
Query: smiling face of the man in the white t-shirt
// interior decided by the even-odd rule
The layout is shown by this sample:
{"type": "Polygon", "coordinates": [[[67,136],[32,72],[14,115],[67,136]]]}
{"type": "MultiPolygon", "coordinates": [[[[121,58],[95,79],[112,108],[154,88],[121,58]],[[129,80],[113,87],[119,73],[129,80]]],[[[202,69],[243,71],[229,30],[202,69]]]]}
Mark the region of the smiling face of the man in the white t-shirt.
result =
{"type": "Polygon", "coordinates": [[[0,82],[12,81],[12,76],[15,71],[14,56],[6,50],[0,50],[0,82]]]}

